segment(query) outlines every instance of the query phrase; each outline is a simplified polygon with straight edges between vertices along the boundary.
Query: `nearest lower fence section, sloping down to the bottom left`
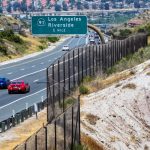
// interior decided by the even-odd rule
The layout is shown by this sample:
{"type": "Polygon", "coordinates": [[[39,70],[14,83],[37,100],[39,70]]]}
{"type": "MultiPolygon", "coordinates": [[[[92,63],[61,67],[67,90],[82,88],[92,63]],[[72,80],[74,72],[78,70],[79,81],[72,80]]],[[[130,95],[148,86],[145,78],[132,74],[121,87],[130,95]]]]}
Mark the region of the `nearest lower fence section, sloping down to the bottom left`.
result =
{"type": "Polygon", "coordinates": [[[70,150],[80,143],[80,101],[42,127],[15,150],[70,150]]]}

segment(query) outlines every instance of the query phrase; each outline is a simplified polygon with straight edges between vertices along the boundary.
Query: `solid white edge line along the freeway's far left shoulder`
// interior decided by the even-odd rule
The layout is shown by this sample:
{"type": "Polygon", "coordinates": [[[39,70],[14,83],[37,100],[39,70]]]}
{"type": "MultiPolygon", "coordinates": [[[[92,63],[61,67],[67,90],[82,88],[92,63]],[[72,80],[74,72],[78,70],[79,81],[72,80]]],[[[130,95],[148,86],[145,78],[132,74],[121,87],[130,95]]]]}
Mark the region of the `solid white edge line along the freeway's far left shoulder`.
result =
{"type": "MultiPolygon", "coordinates": [[[[72,41],[72,39],[71,39],[70,41],[72,41]]],[[[63,45],[63,43],[62,43],[62,45],[63,45]]],[[[58,45],[58,46],[61,46],[61,45],[58,45]]],[[[57,48],[57,47],[56,47],[56,48],[57,48]]],[[[21,66],[21,65],[24,65],[24,64],[28,64],[28,63],[30,63],[30,62],[33,62],[33,61],[36,61],[36,60],[40,60],[40,59],[49,57],[49,56],[54,55],[54,54],[57,54],[57,53],[59,53],[59,52],[61,52],[61,50],[56,51],[56,52],[53,52],[53,53],[50,53],[50,54],[47,54],[46,56],[43,56],[43,57],[40,57],[40,58],[37,58],[37,59],[29,60],[29,61],[24,62],[24,63],[20,63],[20,64],[12,65],[12,66],[9,66],[9,67],[1,68],[0,70],[4,70],[4,69],[16,67],[16,66],[21,66]]]]}

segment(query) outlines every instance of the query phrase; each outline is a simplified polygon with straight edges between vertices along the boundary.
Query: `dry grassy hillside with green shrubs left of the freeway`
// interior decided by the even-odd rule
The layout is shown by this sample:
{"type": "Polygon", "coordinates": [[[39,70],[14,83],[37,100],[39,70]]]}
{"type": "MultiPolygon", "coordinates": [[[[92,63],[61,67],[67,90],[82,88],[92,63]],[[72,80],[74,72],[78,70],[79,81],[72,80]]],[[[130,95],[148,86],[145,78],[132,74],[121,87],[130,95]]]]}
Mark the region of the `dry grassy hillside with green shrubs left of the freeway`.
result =
{"type": "Polygon", "coordinates": [[[59,37],[34,37],[20,20],[0,16],[0,62],[42,51],[49,42],[58,40],[59,37]]]}

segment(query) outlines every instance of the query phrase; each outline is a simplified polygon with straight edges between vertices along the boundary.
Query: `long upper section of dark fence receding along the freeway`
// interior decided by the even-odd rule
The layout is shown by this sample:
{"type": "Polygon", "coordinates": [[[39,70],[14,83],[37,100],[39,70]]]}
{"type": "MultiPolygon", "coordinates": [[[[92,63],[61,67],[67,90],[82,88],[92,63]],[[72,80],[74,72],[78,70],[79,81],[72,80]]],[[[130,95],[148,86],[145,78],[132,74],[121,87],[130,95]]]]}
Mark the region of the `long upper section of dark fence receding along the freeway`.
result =
{"type": "Polygon", "coordinates": [[[65,110],[66,97],[85,76],[105,72],[121,58],[147,45],[147,35],[138,34],[107,44],[73,49],[47,68],[48,122],[65,110]]]}

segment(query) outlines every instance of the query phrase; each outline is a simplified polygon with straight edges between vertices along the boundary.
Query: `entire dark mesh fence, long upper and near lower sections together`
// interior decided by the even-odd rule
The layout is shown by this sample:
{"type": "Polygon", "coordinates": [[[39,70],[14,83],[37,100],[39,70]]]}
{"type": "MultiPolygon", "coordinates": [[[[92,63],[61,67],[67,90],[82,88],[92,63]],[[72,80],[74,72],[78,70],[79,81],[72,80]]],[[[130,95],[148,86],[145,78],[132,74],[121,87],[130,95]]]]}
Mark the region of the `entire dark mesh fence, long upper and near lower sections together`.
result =
{"type": "Polygon", "coordinates": [[[147,45],[139,34],[125,40],[71,50],[47,68],[48,124],[15,150],[69,150],[80,144],[80,98],[72,89],[85,76],[105,72],[122,57],[147,45]]]}

